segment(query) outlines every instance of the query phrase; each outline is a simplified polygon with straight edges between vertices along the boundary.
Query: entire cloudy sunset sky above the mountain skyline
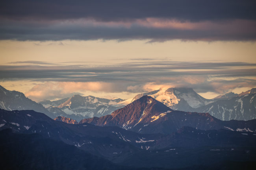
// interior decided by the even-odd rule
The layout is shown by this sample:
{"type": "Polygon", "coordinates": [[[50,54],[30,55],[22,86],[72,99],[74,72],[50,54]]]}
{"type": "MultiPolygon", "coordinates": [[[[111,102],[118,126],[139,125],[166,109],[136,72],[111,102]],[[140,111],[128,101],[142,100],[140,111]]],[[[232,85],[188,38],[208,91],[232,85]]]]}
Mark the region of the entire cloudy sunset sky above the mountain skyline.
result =
{"type": "Polygon", "coordinates": [[[0,85],[34,101],[256,87],[253,0],[0,2],[0,85]]]}

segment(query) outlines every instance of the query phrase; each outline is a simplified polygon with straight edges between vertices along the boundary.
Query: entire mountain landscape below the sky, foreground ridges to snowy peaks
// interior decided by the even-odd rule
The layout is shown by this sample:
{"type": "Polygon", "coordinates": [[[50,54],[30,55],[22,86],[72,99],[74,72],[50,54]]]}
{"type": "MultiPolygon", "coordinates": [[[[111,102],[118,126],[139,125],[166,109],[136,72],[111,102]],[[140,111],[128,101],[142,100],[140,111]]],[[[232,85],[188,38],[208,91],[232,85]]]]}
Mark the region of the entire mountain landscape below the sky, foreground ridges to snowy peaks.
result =
{"type": "Polygon", "coordinates": [[[204,99],[168,88],[132,99],[34,102],[0,86],[2,169],[256,168],[255,89],[204,99]]]}

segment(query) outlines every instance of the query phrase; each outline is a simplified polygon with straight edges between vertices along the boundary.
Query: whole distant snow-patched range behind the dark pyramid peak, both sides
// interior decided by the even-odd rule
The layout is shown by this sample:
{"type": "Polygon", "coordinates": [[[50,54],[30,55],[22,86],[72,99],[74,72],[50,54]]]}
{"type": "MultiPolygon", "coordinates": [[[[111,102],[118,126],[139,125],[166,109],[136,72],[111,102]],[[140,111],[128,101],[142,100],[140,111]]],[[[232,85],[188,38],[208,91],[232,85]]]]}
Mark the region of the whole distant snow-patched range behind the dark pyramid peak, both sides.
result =
{"type": "Polygon", "coordinates": [[[223,121],[251,120],[256,118],[256,88],[240,94],[227,93],[213,99],[205,99],[191,88],[161,88],[141,93],[127,100],[103,99],[93,96],[74,95],[57,101],[36,103],[18,91],[9,91],[0,86],[0,108],[6,110],[35,110],[52,119],[57,116],[69,117],[76,121],[109,115],[115,110],[139,99],[144,95],[162,102],[172,110],[210,113],[223,121]]]}

